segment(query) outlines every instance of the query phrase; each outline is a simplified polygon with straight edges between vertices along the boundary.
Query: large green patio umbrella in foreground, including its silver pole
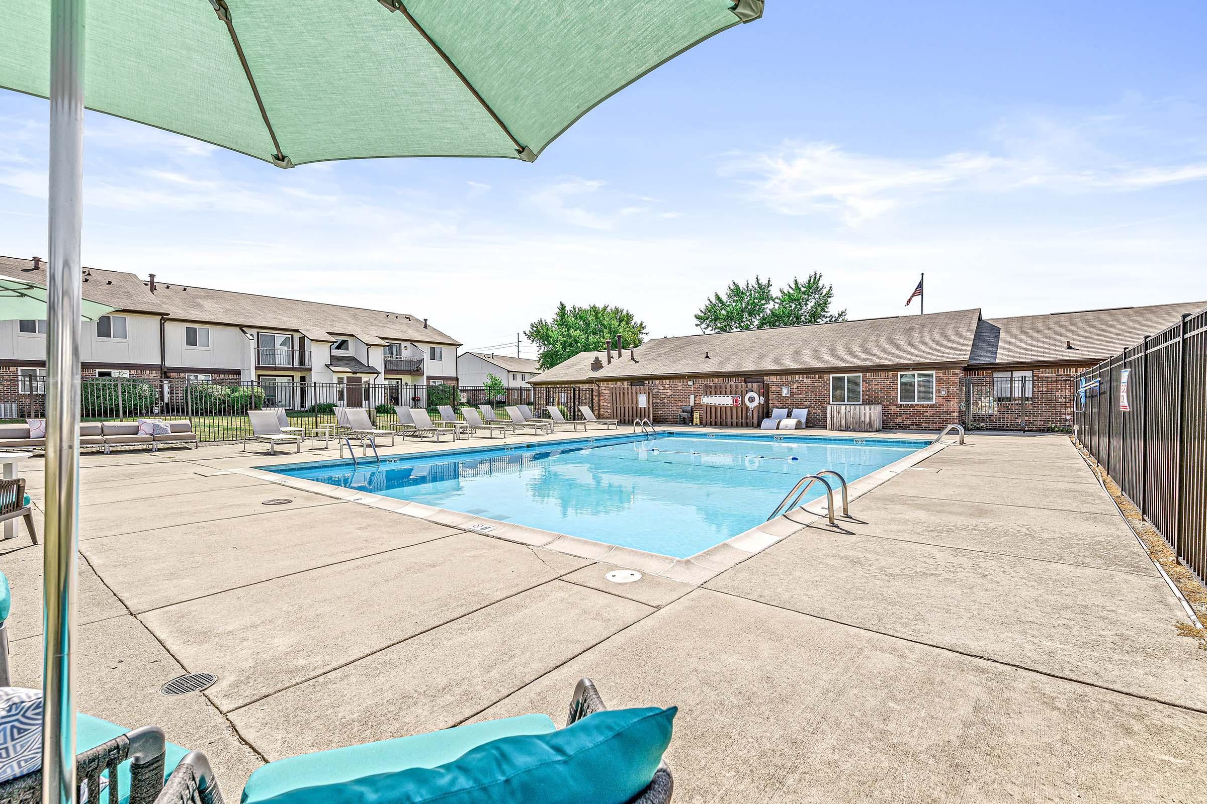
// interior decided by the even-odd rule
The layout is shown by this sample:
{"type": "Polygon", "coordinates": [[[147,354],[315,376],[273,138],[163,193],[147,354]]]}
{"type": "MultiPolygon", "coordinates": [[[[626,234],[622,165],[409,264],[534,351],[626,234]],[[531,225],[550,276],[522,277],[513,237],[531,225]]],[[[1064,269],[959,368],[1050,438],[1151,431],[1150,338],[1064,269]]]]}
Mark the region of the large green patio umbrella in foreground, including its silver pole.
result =
{"type": "Polygon", "coordinates": [[[75,794],[84,107],[280,168],[373,157],[532,162],[610,95],[762,14],[763,0],[5,5],[0,87],[51,101],[45,804],[75,794]]]}

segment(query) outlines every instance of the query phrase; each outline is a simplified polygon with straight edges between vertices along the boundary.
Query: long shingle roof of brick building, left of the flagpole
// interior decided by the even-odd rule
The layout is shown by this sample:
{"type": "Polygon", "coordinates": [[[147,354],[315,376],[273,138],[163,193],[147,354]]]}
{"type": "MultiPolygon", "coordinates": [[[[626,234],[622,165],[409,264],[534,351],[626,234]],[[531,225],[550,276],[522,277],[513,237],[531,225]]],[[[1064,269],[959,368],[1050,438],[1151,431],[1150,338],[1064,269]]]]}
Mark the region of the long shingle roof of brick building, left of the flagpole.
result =
{"type": "Polygon", "coordinates": [[[963,365],[972,352],[979,310],[926,316],[867,318],[830,324],[753,329],[711,335],[658,338],[629,351],[599,371],[595,357],[583,352],[532,378],[537,383],[567,383],[675,375],[730,375],[890,365],[963,365]]]}

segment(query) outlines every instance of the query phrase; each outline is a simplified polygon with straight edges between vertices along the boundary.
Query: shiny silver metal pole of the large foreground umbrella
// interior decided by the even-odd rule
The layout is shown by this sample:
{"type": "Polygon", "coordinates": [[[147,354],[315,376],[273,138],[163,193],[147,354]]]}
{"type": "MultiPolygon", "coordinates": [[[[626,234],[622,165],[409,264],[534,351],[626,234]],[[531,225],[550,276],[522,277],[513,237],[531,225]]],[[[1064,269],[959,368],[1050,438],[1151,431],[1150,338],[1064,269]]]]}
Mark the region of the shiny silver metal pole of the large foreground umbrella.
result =
{"type": "MultiPolygon", "coordinates": [[[[51,4],[49,266],[46,339],[42,804],[75,800],[76,527],[84,0],[51,4]]],[[[88,791],[100,798],[99,791],[88,791]]]]}

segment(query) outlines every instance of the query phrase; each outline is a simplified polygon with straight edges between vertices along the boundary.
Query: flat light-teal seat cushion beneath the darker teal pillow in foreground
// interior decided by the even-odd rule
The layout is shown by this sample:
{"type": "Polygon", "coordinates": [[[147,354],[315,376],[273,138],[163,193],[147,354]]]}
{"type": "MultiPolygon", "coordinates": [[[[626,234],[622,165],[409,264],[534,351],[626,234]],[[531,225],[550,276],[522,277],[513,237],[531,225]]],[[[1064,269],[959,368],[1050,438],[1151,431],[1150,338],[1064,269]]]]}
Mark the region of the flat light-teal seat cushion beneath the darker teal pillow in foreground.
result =
{"type": "Polygon", "coordinates": [[[453,762],[483,743],[518,734],[548,734],[556,728],[547,715],[520,715],[286,757],[257,768],[243,788],[241,800],[251,804],[298,787],[334,785],[407,768],[435,768],[453,762]]]}

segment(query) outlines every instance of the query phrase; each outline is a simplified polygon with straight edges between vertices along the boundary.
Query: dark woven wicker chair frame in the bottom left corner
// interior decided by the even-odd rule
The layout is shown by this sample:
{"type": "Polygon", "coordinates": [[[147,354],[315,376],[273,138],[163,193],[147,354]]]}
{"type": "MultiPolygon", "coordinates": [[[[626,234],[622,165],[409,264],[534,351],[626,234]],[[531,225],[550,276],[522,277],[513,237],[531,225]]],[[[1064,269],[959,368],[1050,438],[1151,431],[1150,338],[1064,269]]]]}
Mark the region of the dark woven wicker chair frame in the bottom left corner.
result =
{"type": "MultiPolygon", "coordinates": [[[[136,728],[77,755],[76,800],[83,800],[83,790],[87,785],[89,802],[118,804],[117,765],[127,759],[130,761],[129,804],[156,802],[164,787],[164,736],[163,729],[158,726],[136,728]],[[106,794],[98,796],[100,775],[106,771],[109,774],[106,794]]],[[[0,782],[0,804],[41,804],[41,769],[0,782]]]]}

